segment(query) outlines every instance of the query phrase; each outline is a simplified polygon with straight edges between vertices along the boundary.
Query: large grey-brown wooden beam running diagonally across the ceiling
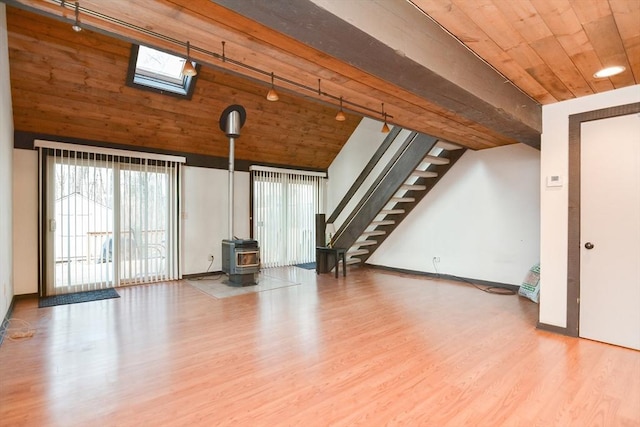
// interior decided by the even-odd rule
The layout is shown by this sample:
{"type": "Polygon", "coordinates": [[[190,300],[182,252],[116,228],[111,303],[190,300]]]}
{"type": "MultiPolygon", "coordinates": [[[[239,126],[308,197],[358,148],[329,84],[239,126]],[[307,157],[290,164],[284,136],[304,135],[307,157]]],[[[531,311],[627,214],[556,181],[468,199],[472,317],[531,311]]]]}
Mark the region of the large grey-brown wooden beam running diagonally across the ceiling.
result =
{"type": "Polygon", "coordinates": [[[376,1],[365,9],[357,2],[314,1],[214,0],[470,121],[539,147],[540,105],[430,19],[416,19],[407,2],[392,2],[390,11],[376,1]],[[384,25],[378,25],[376,17],[384,25]],[[399,29],[412,46],[423,50],[414,56],[418,59],[411,58],[408,49],[393,46],[400,43],[394,36],[399,29]]]}

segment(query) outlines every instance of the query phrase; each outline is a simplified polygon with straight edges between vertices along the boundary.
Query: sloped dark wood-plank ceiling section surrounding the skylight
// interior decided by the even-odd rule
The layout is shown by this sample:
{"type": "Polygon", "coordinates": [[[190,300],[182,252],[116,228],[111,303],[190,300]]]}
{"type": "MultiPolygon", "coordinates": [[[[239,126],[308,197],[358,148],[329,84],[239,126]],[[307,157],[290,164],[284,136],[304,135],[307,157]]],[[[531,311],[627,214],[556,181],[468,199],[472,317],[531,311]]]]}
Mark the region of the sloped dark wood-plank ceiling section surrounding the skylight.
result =
{"type": "MultiPolygon", "coordinates": [[[[202,67],[191,100],[126,86],[131,43],[8,8],[14,126],[18,131],[227,157],[219,127],[231,104],[247,110],[236,158],[326,169],[360,122],[299,96],[202,67]]],[[[220,164],[226,165],[224,162],[220,164]]]]}

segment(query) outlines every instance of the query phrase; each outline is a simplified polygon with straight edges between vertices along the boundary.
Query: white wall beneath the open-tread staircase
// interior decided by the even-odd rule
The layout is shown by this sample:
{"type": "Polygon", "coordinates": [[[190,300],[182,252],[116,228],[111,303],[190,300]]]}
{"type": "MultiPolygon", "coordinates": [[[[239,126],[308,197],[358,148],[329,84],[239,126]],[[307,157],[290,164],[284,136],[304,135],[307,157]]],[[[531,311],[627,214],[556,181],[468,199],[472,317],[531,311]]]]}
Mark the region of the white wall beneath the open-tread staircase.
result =
{"type": "Polygon", "coordinates": [[[540,152],[467,151],[368,263],[520,285],[538,262],[540,152]]]}

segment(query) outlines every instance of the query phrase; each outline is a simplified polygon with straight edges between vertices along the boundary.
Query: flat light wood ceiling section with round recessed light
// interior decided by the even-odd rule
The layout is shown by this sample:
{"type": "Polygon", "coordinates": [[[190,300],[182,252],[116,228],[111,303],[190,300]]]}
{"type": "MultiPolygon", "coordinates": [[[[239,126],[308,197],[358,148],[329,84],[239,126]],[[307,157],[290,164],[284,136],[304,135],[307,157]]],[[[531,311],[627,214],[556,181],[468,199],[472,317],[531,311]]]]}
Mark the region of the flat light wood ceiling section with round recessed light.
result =
{"type": "Polygon", "coordinates": [[[640,83],[640,0],[411,1],[541,104],[640,83]]]}

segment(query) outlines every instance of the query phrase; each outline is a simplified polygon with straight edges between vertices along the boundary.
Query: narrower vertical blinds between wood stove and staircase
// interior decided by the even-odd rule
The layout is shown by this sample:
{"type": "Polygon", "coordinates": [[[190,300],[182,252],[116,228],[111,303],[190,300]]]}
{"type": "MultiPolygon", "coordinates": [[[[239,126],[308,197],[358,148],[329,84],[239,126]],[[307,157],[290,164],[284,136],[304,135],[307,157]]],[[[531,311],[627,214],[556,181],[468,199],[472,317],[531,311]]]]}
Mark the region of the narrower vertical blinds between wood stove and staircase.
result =
{"type": "Polygon", "coordinates": [[[315,261],[315,214],[324,211],[324,173],[251,167],[253,237],[263,267],[315,261]]]}

